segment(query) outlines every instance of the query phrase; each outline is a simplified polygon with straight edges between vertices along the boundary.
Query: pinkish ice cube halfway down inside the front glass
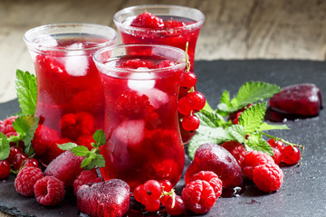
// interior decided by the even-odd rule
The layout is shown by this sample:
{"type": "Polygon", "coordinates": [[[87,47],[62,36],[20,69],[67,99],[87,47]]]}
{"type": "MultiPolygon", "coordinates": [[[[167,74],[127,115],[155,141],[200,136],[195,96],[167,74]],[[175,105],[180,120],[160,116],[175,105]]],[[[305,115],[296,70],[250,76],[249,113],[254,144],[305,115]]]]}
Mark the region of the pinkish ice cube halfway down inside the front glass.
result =
{"type": "Polygon", "coordinates": [[[128,146],[137,146],[144,138],[145,120],[125,120],[114,130],[114,137],[128,146]]]}

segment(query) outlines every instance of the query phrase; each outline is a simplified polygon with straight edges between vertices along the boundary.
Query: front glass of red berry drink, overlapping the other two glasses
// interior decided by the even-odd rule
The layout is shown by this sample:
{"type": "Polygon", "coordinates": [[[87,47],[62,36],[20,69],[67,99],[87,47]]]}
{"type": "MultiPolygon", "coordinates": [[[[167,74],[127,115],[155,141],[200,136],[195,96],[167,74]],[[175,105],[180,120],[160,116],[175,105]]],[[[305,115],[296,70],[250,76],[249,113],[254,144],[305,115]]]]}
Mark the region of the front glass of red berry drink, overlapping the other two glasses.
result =
{"type": "Polygon", "coordinates": [[[177,122],[183,58],[180,49],[150,44],[95,53],[105,96],[105,180],[122,179],[131,190],[149,179],[177,184],[185,162],[177,122]]]}

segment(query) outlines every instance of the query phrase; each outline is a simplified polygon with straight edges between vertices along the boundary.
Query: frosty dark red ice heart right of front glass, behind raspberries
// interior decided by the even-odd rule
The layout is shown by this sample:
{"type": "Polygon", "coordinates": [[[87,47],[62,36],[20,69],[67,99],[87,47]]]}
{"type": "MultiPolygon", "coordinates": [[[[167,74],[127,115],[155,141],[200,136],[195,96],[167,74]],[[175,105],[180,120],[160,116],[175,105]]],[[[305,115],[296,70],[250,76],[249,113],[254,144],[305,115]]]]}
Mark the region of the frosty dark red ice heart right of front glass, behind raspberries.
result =
{"type": "Polygon", "coordinates": [[[225,188],[239,186],[243,182],[243,173],[235,157],[216,144],[204,144],[197,148],[194,160],[187,168],[186,183],[200,171],[214,172],[225,188]]]}

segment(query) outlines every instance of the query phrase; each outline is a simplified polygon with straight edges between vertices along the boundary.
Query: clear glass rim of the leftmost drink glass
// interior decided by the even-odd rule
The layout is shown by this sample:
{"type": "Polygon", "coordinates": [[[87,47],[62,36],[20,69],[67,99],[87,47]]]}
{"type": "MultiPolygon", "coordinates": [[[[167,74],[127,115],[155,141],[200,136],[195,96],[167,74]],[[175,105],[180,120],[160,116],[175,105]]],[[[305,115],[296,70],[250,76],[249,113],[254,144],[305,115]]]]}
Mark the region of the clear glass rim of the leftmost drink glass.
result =
{"type": "MultiPolygon", "coordinates": [[[[54,33],[54,32],[53,32],[54,33]]],[[[66,33],[83,33],[81,32],[73,32],[73,31],[66,31],[66,33]]],[[[85,32],[86,33],[86,32],[85,32]]],[[[34,27],[32,29],[27,30],[24,33],[24,42],[28,45],[33,47],[34,50],[44,50],[44,51],[53,51],[53,52],[79,52],[79,51],[90,51],[90,50],[97,50],[99,48],[105,47],[110,45],[112,42],[115,42],[118,37],[118,33],[111,28],[108,25],[102,25],[102,24],[86,24],[86,23],[61,23],[61,24],[44,24],[40,25],[37,27],[34,27]],[[99,33],[94,33],[95,35],[101,35],[104,36],[106,39],[108,39],[107,42],[100,42],[94,44],[94,46],[88,47],[88,48],[73,48],[73,47],[63,47],[63,46],[53,46],[53,45],[46,45],[42,44],[40,42],[34,42],[35,39],[38,37],[43,37],[46,35],[50,35],[50,33],[42,33],[43,31],[46,30],[57,30],[60,28],[65,28],[65,27],[89,27],[89,28],[101,28],[104,29],[105,31],[109,31],[110,34],[99,34],[99,33]],[[39,35],[33,36],[34,33],[41,33],[39,35]],[[108,36],[113,36],[113,37],[108,37],[108,36]],[[63,49],[64,48],[64,49],[63,49]]]]}

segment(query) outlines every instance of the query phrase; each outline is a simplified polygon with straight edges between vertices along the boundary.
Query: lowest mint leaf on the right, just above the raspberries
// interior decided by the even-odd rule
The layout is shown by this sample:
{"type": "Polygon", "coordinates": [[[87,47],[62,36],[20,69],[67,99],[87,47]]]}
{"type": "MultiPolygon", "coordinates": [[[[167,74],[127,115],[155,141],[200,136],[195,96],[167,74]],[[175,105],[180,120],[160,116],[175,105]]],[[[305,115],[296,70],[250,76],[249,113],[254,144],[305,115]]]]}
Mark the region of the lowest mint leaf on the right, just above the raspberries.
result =
{"type": "Polygon", "coordinates": [[[245,148],[247,151],[257,150],[273,156],[273,148],[262,137],[262,133],[253,134],[245,141],[245,148]]]}

